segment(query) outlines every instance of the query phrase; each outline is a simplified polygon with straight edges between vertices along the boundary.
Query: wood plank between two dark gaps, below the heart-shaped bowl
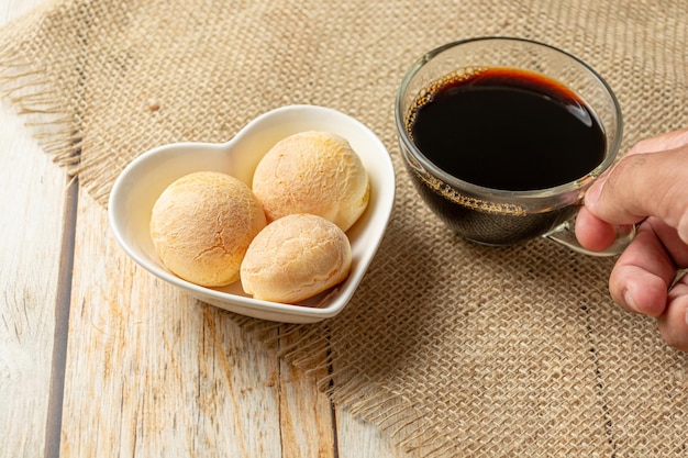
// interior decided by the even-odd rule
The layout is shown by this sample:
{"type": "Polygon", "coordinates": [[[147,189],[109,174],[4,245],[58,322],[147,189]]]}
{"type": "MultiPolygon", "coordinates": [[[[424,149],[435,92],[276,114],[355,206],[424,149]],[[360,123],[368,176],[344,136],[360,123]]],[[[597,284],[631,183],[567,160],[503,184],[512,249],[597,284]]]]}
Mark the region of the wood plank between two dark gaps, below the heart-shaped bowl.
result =
{"type": "MultiPolygon", "coordinates": [[[[332,436],[314,384],[280,370],[233,315],[125,257],[86,192],[76,238],[63,455],[269,458],[320,448],[282,437],[282,421],[287,431],[332,436]]],[[[329,457],[332,448],[291,456],[329,457]]]]}

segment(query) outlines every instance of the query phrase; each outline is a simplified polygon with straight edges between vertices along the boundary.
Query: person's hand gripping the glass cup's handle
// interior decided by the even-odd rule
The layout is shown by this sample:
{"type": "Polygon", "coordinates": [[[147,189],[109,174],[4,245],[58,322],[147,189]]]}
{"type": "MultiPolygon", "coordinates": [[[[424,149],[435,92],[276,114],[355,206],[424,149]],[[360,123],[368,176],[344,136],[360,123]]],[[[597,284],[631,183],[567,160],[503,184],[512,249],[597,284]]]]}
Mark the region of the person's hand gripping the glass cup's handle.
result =
{"type": "Polygon", "coordinates": [[[672,346],[688,351],[688,129],[637,143],[588,190],[576,236],[602,250],[613,224],[637,224],[637,234],[609,278],[614,302],[657,319],[672,346]]]}

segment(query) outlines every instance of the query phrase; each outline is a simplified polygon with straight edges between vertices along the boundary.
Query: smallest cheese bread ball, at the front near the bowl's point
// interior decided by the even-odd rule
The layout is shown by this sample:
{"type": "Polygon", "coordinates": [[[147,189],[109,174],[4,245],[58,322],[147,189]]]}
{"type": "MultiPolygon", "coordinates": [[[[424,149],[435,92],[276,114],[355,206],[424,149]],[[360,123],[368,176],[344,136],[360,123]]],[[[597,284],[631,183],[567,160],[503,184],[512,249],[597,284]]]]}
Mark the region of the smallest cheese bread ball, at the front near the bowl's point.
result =
{"type": "Polygon", "coordinates": [[[256,299],[296,303],[342,282],[351,265],[348,238],[336,224],[291,214],[254,238],[242,262],[242,287],[256,299]]]}

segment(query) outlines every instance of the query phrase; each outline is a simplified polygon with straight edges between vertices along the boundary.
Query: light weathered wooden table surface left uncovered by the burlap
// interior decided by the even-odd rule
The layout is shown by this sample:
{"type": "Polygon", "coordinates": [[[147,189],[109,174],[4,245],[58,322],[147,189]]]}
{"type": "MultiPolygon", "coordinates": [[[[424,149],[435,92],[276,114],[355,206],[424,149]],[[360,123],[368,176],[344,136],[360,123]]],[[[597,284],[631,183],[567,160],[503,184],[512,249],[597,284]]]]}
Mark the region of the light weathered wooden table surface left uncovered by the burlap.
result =
{"type": "MultiPolygon", "coordinates": [[[[41,0],[2,0],[0,24],[41,0]]],[[[0,105],[0,456],[401,457],[232,315],[135,266],[0,105]]]]}

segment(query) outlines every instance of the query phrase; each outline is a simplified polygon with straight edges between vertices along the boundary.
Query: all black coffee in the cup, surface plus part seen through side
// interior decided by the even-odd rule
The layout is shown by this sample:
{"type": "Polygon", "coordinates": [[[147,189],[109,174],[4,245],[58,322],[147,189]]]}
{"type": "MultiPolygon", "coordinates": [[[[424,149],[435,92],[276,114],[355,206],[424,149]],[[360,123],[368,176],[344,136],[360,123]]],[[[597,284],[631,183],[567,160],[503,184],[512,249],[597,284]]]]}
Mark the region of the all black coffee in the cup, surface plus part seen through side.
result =
{"type": "MultiPolygon", "coordinates": [[[[407,120],[409,136],[437,167],[487,188],[523,191],[586,176],[604,157],[595,112],[573,91],[539,74],[488,68],[426,88],[407,120]]],[[[575,209],[522,214],[415,176],[423,198],[476,242],[511,244],[565,221],[575,209]]]]}

